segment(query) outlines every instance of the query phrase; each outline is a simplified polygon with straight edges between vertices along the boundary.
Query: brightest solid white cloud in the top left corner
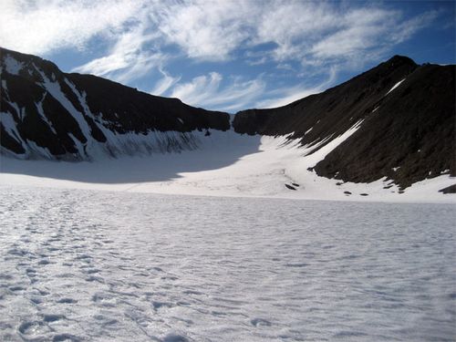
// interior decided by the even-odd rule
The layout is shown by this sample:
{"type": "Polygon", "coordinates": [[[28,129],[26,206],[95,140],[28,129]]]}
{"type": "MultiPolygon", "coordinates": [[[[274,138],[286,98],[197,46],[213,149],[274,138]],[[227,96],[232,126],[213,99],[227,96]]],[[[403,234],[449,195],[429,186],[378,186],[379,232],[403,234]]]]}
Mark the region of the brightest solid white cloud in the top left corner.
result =
{"type": "Polygon", "coordinates": [[[37,55],[83,49],[93,36],[115,34],[141,7],[140,1],[2,0],[1,45],[37,55]]]}

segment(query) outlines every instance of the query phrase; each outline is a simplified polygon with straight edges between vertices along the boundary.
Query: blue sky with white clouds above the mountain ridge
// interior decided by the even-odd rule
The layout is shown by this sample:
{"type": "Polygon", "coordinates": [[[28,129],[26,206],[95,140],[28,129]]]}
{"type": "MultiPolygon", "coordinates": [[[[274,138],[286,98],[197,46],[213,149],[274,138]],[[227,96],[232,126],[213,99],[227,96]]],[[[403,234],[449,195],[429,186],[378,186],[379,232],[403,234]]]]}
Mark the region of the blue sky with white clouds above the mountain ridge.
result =
{"type": "Polygon", "coordinates": [[[0,46],[205,109],[274,108],[394,55],[455,64],[454,1],[1,0],[0,46]]]}

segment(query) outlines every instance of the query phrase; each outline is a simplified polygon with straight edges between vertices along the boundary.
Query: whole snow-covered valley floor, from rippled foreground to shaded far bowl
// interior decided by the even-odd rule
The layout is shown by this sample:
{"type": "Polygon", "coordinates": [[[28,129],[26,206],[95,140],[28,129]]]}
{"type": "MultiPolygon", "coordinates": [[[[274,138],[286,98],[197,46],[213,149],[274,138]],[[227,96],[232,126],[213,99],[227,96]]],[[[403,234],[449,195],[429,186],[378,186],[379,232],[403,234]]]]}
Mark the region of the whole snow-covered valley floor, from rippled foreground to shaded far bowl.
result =
{"type": "Polygon", "coordinates": [[[316,153],[213,131],[181,153],[0,157],[0,341],[454,340],[456,181],[307,170],[358,127],[316,153]]]}

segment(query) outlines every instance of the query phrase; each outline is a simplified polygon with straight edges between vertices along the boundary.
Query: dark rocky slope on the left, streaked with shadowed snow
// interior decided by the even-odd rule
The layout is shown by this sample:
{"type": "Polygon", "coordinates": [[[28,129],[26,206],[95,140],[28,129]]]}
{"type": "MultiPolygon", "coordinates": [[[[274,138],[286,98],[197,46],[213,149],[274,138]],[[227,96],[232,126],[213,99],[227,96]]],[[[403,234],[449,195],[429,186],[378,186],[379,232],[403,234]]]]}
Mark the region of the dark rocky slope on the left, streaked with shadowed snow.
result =
{"type": "Polygon", "coordinates": [[[230,129],[228,114],[177,98],[66,74],[45,59],[4,48],[0,60],[2,152],[18,158],[85,160],[99,153],[181,150],[197,145],[192,130],[230,129]]]}

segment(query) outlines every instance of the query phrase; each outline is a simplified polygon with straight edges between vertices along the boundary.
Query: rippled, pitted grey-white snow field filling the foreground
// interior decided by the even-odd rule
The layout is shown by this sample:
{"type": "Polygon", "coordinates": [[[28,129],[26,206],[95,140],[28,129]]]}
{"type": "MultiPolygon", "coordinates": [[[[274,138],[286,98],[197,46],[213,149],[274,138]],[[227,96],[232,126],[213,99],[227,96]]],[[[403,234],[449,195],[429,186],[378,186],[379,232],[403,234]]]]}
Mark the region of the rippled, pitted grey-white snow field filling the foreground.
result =
{"type": "Polygon", "coordinates": [[[456,337],[452,204],[0,194],[2,341],[456,337]]]}

